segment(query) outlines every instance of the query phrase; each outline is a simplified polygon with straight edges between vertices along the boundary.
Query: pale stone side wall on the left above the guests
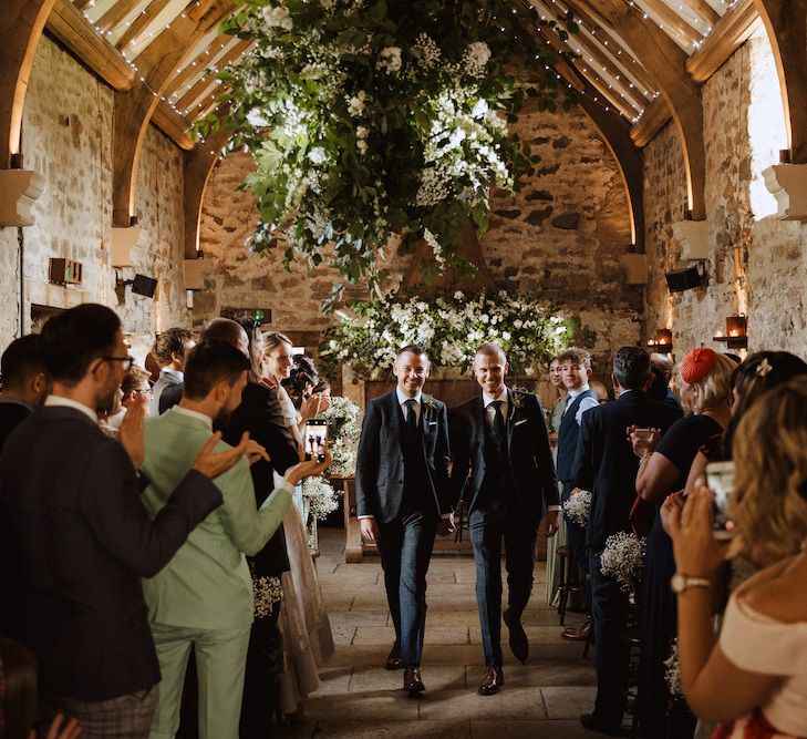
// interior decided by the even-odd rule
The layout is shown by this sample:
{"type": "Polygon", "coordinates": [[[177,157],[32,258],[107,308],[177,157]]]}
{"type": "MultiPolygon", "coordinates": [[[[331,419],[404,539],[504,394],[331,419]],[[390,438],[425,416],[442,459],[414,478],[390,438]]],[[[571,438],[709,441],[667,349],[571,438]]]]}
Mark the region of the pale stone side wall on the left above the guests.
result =
{"type": "MultiPolygon", "coordinates": [[[[111,264],[113,93],[58,43],[43,38],[37,50],[23,110],[25,166],[45,177],[34,207],[35,224],[22,229],[24,300],[22,330],[31,329],[29,305],[69,308],[83,301],[118,312],[133,345],[143,348],[155,330],[189,322],[183,287],[183,168],[180,151],[149,127],[141,157],[136,213],[142,226],[132,269],[156,277],[155,300],[126,289],[115,297],[111,264]],[[83,265],[81,286],[48,280],[50,257],[83,265]]],[[[20,333],[18,229],[0,228],[0,345],[20,333]]]]}

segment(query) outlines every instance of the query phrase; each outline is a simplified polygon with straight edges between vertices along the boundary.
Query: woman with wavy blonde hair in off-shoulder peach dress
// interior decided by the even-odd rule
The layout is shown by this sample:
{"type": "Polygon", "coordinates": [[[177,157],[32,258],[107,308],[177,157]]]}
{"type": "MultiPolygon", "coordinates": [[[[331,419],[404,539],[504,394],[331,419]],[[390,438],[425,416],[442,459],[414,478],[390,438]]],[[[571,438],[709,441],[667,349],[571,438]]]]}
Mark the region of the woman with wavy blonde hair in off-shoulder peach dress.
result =
{"type": "Polygon", "coordinates": [[[713,587],[726,555],[714,537],[714,497],[700,485],[670,521],[677,567],[679,657],[700,717],[723,721],[716,739],[807,736],[807,378],[765,393],[733,443],[731,553],[766,552],[775,564],[732,595],[717,639],[713,587]]]}

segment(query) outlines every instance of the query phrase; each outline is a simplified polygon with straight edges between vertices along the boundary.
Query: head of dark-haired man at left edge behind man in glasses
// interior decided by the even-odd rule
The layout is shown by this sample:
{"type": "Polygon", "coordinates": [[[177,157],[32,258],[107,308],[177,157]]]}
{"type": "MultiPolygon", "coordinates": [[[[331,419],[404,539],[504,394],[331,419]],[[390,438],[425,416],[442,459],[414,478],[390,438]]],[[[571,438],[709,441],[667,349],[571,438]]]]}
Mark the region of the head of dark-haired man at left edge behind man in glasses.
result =
{"type": "Polygon", "coordinates": [[[44,402],[48,374],[40,337],[29,333],[14,339],[0,359],[0,452],[8,435],[44,402]]]}

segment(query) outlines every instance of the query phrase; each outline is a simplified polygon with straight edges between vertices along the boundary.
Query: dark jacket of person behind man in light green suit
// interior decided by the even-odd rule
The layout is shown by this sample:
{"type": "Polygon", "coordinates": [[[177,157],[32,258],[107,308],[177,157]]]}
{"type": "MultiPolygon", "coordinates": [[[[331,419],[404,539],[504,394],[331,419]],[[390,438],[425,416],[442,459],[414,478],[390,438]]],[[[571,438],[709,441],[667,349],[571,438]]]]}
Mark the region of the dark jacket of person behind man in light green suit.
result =
{"type": "MultiPolygon", "coordinates": [[[[297,443],[286,428],[277,391],[257,382],[246,384],[241,393],[241,404],[236,408],[227,425],[221,429],[221,437],[228,444],[235,447],[240,442],[245,431],[249,431],[249,438],[263,447],[271,458],[270,462],[259,460],[249,468],[255,486],[255,502],[260,509],[275,490],[272,472],[277,471],[282,475],[300,461],[297,443]]],[[[252,557],[252,564],[255,574],[261,577],[276,577],[288,572],[289,556],[286,552],[282,524],[266,546],[252,557]]]]}

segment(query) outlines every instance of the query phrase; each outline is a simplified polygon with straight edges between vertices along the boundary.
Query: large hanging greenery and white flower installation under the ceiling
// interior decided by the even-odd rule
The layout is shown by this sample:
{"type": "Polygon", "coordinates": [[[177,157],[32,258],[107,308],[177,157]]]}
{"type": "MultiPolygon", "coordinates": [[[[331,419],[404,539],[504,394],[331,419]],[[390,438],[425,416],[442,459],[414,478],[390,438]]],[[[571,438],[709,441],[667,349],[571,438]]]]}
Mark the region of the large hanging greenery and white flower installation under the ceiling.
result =
{"type": "Polygon", "coordinates": [[[571,13],[558,27],[510,0],[242,6],[223,30],[256,43],[219,72],[228,105],[196,131],[225,126],[252,155],[252,249],[282,237],[287,267],[329,258],[346,281],[377,287],[389,245],[408,254],[423,239],[458,264],[463,230],[487,228],[492,186],[518,189],[537,162],[508,123],[527,97],[572,102],[539,35],[576,32],[571,13]]]}

